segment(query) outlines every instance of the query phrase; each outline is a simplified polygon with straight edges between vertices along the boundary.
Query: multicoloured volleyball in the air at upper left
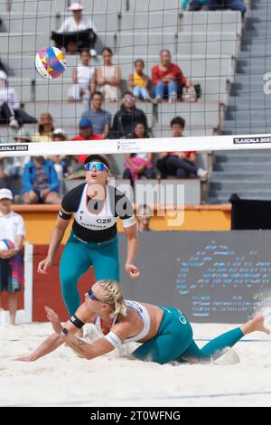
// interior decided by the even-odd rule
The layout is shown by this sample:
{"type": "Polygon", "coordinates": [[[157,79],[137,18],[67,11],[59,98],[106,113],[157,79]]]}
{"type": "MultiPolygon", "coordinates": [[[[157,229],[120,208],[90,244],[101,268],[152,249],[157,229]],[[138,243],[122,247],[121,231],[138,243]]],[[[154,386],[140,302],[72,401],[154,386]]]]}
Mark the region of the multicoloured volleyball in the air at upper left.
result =
{"type": "Polygon", "coordinates": [[[61,77],[66,65],[66,56],[56,47],[43,47],[36,54],[35,68],[44,79],[54,80],[61,77]]]}

